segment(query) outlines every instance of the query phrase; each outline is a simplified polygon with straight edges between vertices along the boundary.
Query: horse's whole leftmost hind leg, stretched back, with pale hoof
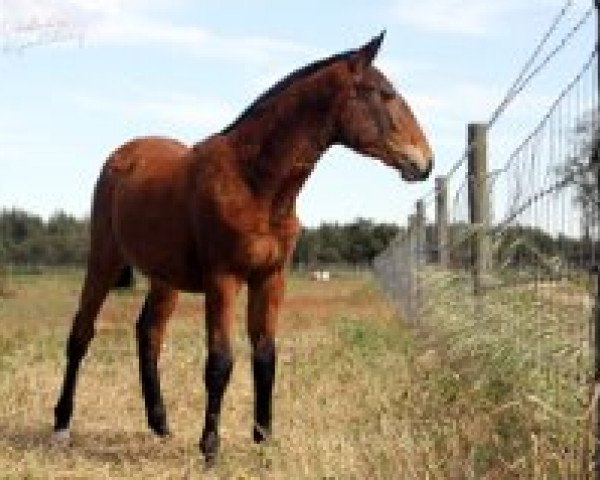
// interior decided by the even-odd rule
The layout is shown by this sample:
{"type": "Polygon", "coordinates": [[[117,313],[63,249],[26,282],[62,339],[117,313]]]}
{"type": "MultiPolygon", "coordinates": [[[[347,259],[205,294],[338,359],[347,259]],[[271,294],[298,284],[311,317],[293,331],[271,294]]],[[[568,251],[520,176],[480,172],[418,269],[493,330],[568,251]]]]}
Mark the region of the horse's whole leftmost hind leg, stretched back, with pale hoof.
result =
{"type": "Polygon", "coordinates": [[[109,248],[108,243],[110,242],[104,244],[102,252],[94,249],[90,252],[79,308],[67,340],[67,367],[62,391],[54,409],[54,432],[57,439],[68,436],[77,372],[94,336],[94,323],[100,307],[124,266],[120,254],[115,248],[109,248]]]}

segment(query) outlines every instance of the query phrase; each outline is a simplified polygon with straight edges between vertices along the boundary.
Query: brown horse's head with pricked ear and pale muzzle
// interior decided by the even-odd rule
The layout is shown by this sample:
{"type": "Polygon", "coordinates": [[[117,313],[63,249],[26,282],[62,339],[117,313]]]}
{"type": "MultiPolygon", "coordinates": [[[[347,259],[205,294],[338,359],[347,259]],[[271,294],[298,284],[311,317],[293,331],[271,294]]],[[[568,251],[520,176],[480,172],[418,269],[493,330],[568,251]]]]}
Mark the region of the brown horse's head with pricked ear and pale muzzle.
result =
{"type": "Polygon", "coordinates": [[[425,180],[433,154],[406,101],[375,67],[384,34],[348,54],[338,97],[337,141],[380,159],[408,181],[425,180]]]}

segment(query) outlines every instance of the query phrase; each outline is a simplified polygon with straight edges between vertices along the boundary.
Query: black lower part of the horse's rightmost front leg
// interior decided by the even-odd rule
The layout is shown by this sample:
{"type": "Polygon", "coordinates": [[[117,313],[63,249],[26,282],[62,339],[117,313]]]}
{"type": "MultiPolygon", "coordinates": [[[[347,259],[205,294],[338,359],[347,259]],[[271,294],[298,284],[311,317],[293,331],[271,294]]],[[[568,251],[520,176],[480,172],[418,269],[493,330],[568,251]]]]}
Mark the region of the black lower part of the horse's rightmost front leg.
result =
{"type": "Polygon", "coordinates": [[[254,374],[254,429],[257,443],[265,441],[271,434],[271,397],[275,381],[275,343],[272,339],[257,345],[252,355],[254,374]]]}

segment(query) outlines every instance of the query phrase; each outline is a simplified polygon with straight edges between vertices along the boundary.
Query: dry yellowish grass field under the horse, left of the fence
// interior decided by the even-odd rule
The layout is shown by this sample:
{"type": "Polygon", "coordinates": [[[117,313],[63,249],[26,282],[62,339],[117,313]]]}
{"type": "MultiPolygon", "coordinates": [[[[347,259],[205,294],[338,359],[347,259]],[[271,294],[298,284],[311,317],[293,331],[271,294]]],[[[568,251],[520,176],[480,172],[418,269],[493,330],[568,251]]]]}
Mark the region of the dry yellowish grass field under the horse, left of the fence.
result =
{"type": "Polygon", "coordinates": [[[250,440],[240,301],[222,455],[209,471],[197,448],[202,300],[183,296],[170,324],[161,371],[173,436],[159,440],[146,427],[138,384],[134,322],[144,289],[113,294],[82,368],[72,445],[52,446],[80,282],[78,271],[15,274],[0,298],[0,478],[541,479],[568,478],[585,461],[561,450],[549,420],[522,405],[519,365],[502,358],[485,366],[473,343],[456,342],[455,324],[446,335],[399,319],[367,274],[329,283],[291,277],[274,438],[260,447],[250,440]],[[474,383],[476,369],[485,382],[474,383]]]}

